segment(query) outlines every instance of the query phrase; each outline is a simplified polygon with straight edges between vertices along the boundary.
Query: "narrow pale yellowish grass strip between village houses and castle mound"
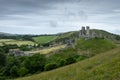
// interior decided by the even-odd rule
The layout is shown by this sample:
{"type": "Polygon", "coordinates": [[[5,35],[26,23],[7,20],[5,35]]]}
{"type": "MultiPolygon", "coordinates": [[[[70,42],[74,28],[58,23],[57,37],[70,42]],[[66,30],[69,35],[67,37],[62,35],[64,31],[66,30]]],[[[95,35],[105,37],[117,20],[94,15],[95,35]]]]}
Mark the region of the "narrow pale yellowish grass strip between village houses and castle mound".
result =
{"type": "Polygon", "coordinates": [[[41,53],[41,54],[48,54],[50,52],[54,52],[56,50],[65,48],[65,45],[59,45],[59,46],[55,46],[55,47],[50,47],[50,48],[45,48],[45,49],[41,49],[41,50],[35,50],[35,51],[27,51],[26,53],[41,53]]]}

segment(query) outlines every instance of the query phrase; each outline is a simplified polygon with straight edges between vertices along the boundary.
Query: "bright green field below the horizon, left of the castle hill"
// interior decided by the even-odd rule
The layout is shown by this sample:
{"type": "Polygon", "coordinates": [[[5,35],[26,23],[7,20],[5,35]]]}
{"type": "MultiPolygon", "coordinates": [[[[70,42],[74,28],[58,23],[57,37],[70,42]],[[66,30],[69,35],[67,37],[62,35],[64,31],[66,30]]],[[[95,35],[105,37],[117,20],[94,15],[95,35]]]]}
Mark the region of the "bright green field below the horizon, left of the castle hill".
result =
{"type": "Polygon", "coordinates": [[[39,37],[33,37],[33,40],[39,44],[48,43],[54,39],[56,39],[58,36],[39,36],[39,37]]]}

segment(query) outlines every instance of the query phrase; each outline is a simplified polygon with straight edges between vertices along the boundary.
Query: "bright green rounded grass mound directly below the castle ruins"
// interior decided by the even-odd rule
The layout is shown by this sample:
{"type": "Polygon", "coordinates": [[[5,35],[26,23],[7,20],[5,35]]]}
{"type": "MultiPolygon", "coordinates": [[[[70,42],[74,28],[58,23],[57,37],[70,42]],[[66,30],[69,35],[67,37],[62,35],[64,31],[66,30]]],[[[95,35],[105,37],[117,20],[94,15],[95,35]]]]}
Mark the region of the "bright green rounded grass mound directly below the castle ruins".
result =
{"type": "Polygon", "coordinates": [[[77,51],[79,54],[93,56],[95,54],[115,48],[116,45],[110,40],[106,39],[80,39],[77,41],[77,51]]]}

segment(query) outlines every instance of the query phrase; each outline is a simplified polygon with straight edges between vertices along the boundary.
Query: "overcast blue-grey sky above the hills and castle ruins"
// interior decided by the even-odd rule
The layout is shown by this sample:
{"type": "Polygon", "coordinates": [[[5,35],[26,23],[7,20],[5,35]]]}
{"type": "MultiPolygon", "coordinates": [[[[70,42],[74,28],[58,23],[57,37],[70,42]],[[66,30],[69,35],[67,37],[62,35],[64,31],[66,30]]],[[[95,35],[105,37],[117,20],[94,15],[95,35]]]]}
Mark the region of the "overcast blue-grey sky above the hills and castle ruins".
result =
{"type": "Polygon", "coordinates": [[[81,26],[120,34],[120,0],[0,0],[0,32],[53,34],[81,26]]]}

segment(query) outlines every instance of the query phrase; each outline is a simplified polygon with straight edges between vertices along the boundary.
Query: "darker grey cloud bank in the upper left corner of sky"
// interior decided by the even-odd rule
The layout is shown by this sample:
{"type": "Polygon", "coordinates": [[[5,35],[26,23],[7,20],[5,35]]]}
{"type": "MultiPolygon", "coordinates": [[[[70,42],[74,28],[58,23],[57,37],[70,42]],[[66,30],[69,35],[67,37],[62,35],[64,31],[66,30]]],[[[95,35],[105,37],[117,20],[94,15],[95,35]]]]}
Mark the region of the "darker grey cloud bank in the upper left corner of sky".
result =
{"type": "Polygon", "coordinates": [[[81,0],[0,0],[0,19],[9,19],[8,15],[41,13],[50,10],[59,3],[79,2],[81,0]]]}

